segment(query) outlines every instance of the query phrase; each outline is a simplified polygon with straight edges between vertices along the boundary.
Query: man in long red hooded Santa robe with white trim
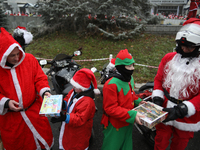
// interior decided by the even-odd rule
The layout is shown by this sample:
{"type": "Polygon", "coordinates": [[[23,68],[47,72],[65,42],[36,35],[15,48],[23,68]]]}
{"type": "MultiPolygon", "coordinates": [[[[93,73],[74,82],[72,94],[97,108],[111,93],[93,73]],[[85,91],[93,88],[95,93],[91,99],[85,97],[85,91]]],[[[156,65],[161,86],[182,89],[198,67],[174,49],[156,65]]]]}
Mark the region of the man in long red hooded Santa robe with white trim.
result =
{"type": "Polygon", "coordinates": [[[50,96],[47,76],[32,54],[1,27],[0,133],[6,150],[50,150],[53,134],[39,116],[42,96],[50,96]]]}

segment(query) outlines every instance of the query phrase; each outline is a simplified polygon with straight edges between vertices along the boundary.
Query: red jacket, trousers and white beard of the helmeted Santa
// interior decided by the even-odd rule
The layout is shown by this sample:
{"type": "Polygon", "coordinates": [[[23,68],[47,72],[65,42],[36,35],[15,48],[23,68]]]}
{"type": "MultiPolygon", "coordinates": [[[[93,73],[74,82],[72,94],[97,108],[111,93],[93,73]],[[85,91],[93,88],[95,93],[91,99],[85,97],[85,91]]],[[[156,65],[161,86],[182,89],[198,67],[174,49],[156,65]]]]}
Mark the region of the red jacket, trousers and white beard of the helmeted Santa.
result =
{"type": "MultiPolygon", "coordinates": [[[[164,99],[163,107],[172,108],[175,103],[164,96],[163,87],[171,97],[184,100],[188,108],[188,114],[180,119],[169,121],[157,126],[155,138],[155,150],[169,144],[172,130],[177,130],[179,137],[172,139],[172,149],[184,149],[187,142],[193,137],[193,132],[200,130],[200,58],[193,58],[189,64],[188,58],[173,52],[165,55],[159,65],[154,80],[154,91],[152,97],[159,96],[164,99]],[[174,128],[175,127],[175,128],[174,128]],[[159,132],[159,131],[161,132],[159,132]],[[166,130],[170,130],[169,132],[166,130]],[[163,131],[163,132],[162,132],[163,131]],[[170,133],[170,135],[168,134],[170,133]],[[166,138],[165,140],[161,140],[166,138]],[[174,140],[174,141],[173,141],[174,140]],[[163,143],[163,141],[165,141],[163,143]]],[[[164,148],[163,148],[164,149],[164,148]]]]}

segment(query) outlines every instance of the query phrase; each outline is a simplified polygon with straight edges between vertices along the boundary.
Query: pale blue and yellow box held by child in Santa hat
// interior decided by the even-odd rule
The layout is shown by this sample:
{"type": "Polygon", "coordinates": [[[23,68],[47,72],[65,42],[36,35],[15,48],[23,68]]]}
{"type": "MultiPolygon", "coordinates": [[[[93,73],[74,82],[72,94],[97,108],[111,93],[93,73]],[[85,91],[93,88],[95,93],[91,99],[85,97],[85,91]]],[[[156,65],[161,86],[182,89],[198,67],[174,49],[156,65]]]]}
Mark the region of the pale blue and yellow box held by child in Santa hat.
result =
{"type": "Polygon", "coordinates": [[[63,95],[44,96],[39,114],[46,117],[60,116],[63,95]]]}

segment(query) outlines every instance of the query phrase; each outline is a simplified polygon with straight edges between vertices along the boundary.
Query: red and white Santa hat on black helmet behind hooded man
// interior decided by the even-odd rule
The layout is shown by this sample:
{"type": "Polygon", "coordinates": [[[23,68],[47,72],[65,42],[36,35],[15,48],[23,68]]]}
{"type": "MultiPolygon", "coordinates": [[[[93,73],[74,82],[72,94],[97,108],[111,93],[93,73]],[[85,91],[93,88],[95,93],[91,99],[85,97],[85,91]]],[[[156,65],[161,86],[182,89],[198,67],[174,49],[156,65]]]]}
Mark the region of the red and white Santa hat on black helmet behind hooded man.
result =
{"type": "Polygon", "coordinates": [[[31,34],[31,32],[28,32],[25,27],[17,26],[14,30],[14,33],[15,32],[23,33],[25,44],[30,44],[32,42],[33,35],[31,34]]]}

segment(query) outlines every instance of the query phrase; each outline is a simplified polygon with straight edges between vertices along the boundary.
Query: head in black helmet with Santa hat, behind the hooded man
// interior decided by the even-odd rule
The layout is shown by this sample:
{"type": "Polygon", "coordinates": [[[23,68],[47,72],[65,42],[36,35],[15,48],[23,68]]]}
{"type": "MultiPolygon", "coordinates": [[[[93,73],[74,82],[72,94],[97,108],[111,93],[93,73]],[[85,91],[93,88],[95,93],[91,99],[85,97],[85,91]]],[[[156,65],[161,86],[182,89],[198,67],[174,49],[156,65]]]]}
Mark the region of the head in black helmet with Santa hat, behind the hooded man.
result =
{"type": "Polygon", "coordinates": [[[21,45],[25,52],[25,47],[33,41],[33,35],[25,27],[17,26],[13,31],[14,39],[21,45]]]}

